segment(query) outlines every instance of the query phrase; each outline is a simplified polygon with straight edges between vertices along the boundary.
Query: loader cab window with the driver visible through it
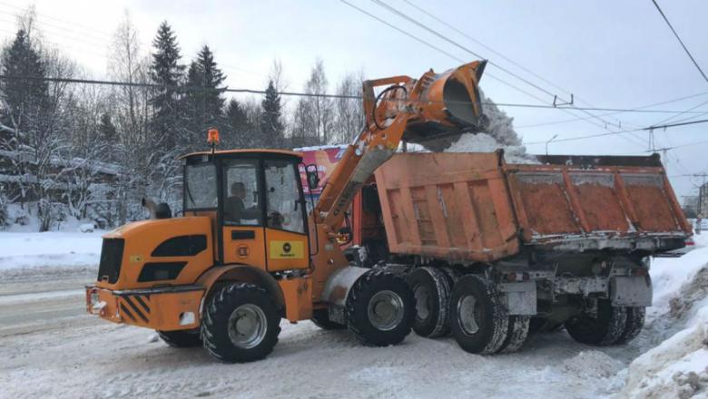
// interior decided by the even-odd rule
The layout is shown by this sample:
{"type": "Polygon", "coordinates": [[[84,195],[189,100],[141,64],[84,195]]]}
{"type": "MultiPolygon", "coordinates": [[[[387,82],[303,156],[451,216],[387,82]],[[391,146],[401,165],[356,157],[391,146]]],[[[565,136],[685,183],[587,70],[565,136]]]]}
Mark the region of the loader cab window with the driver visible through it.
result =
{"type": "Polygon", "coordinates": [[[237,226],[262,226],[258,161],[229,160],[224,164],[223,221],[237,226]]]}

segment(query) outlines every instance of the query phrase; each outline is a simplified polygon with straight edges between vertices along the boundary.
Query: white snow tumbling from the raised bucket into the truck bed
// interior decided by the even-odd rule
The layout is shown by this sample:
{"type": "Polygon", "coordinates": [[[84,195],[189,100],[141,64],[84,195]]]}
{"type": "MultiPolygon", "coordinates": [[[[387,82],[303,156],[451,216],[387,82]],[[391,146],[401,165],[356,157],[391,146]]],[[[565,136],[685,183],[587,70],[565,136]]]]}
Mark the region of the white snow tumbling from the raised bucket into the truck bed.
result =
{"type": "Polygon", "coordinates": [[[501,149],[509,163],[538,163],[535,156],[526,153],[526,147],[514,130],[514,118],[500,110],[497,104],[485,97],[484,92],[480,91],[480,95],[489,123],[485,131],[464,133],[457,141],[438,141],[435,145],[426,143],[426,147],[445,152],[494,152],[501,149]]]}

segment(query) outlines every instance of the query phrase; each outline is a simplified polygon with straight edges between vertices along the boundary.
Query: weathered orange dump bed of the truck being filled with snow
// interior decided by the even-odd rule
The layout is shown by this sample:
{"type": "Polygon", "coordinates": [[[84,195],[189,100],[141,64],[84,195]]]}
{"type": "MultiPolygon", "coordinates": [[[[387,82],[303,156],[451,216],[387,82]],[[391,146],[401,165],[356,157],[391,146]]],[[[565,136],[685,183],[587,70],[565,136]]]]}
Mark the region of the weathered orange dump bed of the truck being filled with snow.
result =
{"type": "Polygon", "coordinates": [[[524,246],[661,252],[692,229],[658,155],[397,154],[376,172],[388,247],[399,254],[493,261],[524,246]]]}

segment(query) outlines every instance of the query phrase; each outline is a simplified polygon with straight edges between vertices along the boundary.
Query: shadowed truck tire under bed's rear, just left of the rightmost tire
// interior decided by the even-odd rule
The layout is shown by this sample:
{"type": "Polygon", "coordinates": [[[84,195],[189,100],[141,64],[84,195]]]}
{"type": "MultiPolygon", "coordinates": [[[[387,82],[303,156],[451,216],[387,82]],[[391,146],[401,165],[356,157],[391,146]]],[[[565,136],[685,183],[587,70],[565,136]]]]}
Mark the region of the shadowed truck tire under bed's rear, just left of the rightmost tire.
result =
{"type": "Polygon", "coordinates": [[[626,307],[613,307],[607,299],[597,300],[597,314],[583,312],[565,321],[568,334],[581,344],[614,345],[627,324],[626,307]]]}

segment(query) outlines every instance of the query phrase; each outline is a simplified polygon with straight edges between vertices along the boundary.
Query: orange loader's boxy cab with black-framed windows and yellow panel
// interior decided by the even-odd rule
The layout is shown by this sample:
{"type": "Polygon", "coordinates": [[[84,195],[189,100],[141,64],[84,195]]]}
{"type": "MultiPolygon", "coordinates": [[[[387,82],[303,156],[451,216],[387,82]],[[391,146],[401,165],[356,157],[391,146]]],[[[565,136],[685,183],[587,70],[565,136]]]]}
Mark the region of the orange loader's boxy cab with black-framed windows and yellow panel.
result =
{"type": "Polygon", "coordinates": [[[299,152],[208,151],[183,160],[182,209],[185,216],[211,218],[215,264],[309,268],[299,152]]]}

